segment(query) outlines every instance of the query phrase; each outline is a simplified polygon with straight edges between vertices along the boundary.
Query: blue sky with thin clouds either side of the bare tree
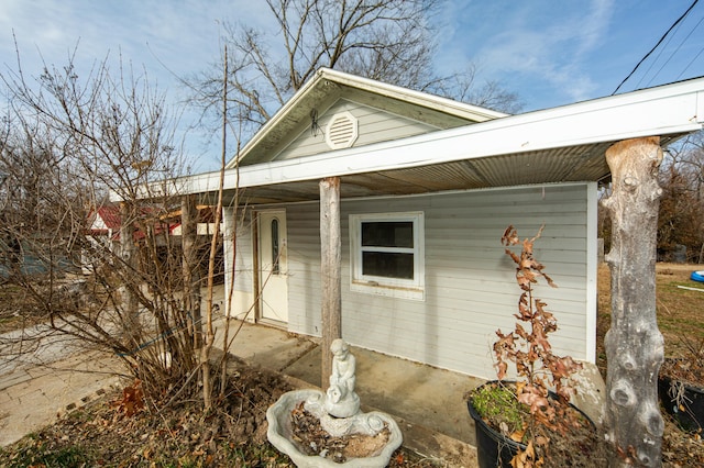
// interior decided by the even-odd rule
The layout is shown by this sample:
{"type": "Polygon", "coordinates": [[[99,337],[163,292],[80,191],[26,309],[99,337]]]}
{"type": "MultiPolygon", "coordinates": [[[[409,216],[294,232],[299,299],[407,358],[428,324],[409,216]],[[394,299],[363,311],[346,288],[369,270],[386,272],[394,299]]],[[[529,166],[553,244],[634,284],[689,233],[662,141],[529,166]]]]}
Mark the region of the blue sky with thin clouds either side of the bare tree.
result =
{"type": "MultiPolygon", "coordinates": [[[[525,111],[608,96],[692,2],[447,0],[433,19],[435,66],[449,73],[473,63],[479,80],[517,92],[525,111]]],[[[41,73],[42,57],[65,65],[78,44],[80,67],[121,55],[178,102],[174,75],[216,62],[223,20],[276,33],[263,0],[2,0],[0,67],[14,67],[14,31],[26,75],[41,73]]],[[[704,76],[703,20],[704,2],[619,92],[704,76]]],[[[194,168],[213,169],[218,151],[190,137],[201,161],[194,168]]]]}

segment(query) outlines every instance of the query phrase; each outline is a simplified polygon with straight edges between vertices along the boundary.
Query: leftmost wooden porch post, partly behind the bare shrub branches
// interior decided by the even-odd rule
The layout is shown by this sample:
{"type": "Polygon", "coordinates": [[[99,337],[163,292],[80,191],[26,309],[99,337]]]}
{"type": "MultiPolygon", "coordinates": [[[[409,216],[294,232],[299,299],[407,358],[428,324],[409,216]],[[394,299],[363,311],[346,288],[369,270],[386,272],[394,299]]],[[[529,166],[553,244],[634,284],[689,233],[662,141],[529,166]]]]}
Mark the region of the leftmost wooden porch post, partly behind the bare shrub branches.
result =
{"type": "Polygon", "coordinates": [[[182,268],[184,274],[184,307],[190,313],[188,328],[194,337],[194,348],[202,346],[200,321],[200,259],[198,258],[198,209],[195,196],[180,200],[182,268]]]}

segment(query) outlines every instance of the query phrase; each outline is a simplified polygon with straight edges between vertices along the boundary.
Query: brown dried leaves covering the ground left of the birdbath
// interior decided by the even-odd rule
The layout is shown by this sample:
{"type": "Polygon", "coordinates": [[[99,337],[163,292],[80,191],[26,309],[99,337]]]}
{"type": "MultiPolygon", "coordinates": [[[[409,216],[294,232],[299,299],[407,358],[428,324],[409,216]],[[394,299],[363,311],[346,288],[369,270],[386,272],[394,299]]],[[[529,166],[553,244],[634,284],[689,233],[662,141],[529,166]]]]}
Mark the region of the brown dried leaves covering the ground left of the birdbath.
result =
{"type": "MultiPolygon", "coordinates": [[[[226,397],[210,412],[202,411],[202,400],[186,398],[158,411],[145,404],[144,411],[125,417],[127,403],[139,401],[138,393],[116,392],[109,395],[111,401],[92,400],[21,443],[3,447],[0,466],[294,467],[266,442],[266,409],[292,386],[280,374],[231,365],[237,370],[232,369],[226,397]]],[[[403,447],[389,464],[436,466],[403,447]]]]}

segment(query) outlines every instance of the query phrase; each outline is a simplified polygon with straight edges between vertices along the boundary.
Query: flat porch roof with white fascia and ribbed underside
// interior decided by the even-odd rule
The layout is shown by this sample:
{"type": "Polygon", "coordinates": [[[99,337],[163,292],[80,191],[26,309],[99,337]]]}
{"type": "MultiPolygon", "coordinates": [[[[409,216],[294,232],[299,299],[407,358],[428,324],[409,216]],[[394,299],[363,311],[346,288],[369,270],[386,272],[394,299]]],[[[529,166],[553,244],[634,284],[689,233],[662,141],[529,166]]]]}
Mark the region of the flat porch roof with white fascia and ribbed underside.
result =
{"type": "MultiPolygon", "coordinates": [[[[341,178],[341,198],[531,183],[600,181],[613,143],[702,130],[704,78],[495,119],[403,140],[230,169],[224,189],[249,203],[314,201],[341,178]],[[234,193],[234,192],[231,192],[234,193]]],[[[216,192],[219,172],[172,181],[179,193],[216,192]]],[[[146,193],[146,191],[145,191],[146,193]]],[[[231,194],[230,194],[231,197],[231,194]]],[[[231,200],[226,200],[231,201],[231,200]]]]}

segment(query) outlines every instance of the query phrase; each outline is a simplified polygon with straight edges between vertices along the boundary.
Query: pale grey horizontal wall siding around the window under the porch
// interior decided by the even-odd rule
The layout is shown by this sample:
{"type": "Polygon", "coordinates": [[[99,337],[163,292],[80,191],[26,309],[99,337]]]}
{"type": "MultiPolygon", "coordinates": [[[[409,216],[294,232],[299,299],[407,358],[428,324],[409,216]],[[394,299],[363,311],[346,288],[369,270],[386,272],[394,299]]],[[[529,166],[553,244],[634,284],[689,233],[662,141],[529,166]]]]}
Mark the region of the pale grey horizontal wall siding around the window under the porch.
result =
{"type": "MultiPolygon", "coordinates": [[[[342,331],[352,344],[480,377],[494,376],[494,332],[513,328],[519,288],[501,235],[514,224],[532,237],[536,258],[559,288],[537,297],[558,319],[559,354],[593,359],[586,327],[587,193],[593,185],[544,186],[424,197],[343,201],[342,331]],[[350,291],[351,213],[424,211],[426,300],[400,300],[350,291]]],[[[592,199],[590,197],[588,199],[592,199]]],[[[287,207],[289,330],[320,334],[320,242],[317,203],[287,207]]]]}

